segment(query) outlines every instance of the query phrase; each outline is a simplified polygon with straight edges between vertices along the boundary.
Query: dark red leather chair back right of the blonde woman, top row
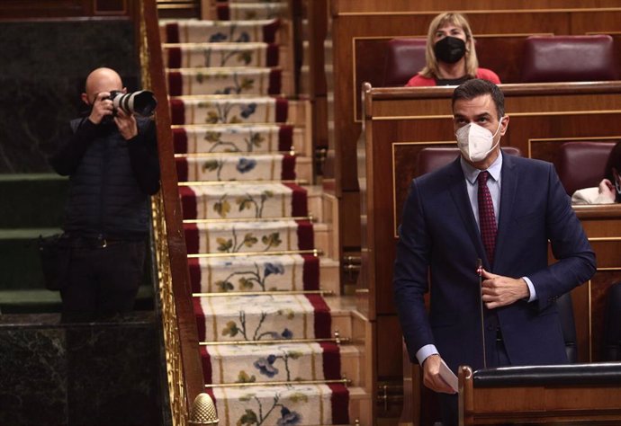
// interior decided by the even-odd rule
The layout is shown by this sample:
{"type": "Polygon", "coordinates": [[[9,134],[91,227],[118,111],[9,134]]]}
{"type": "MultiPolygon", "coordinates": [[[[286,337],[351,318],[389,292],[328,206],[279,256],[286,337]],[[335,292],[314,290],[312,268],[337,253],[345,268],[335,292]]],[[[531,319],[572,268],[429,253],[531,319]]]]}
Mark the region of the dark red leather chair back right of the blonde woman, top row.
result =
{"type": "Polygon", "coordinates": [[[522,83],[608,81],[619,76],[609,35],[530,36],[521,67],[522,83]]]}

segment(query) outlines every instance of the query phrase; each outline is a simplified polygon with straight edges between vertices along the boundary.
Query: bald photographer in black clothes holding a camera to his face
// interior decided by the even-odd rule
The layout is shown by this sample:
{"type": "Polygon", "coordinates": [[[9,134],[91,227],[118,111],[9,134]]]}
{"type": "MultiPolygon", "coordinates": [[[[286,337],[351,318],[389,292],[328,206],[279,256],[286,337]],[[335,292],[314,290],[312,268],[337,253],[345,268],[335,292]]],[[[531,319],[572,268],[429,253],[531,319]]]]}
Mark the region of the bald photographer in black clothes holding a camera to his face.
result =
{"type": "Polygon", "coordinates": [[[63,230],[71,253],[60,288],[65,318],[131,311],[143,276],[148,196],[159,190],[156,129],[153,120],[115,108],[115,92],[127,90],[114,70],[88,75],[82,93],[88,115],[69,122],[51,159],[57,173],[70,176],[63,230]]]}

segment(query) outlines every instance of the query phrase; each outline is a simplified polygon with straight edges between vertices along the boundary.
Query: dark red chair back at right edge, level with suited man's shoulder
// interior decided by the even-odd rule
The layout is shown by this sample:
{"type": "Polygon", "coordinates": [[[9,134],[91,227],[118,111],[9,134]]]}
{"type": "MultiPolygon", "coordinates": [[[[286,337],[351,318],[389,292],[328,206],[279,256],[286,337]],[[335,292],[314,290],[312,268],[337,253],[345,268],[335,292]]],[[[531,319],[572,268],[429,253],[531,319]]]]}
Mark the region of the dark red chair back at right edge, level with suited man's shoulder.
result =
{"type": "Polygon", "coordinates": [[[598,186],[604,178],[608,155],[616,142],[565,142],[559,147],[556,169],[565,191],[598,186]]]}

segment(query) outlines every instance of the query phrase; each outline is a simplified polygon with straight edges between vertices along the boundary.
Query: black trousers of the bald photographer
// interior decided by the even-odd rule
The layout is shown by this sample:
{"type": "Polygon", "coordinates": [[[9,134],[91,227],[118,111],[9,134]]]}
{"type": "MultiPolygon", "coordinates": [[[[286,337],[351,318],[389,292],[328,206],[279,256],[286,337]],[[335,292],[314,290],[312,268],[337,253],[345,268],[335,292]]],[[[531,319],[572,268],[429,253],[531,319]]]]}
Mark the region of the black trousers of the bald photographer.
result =
{"type": "Polygon", "coordinates": [[[76,239],[67,285],[60,290],[63,318],[90,320],[130,312],[144,273],[143,241],[76,239]]]}

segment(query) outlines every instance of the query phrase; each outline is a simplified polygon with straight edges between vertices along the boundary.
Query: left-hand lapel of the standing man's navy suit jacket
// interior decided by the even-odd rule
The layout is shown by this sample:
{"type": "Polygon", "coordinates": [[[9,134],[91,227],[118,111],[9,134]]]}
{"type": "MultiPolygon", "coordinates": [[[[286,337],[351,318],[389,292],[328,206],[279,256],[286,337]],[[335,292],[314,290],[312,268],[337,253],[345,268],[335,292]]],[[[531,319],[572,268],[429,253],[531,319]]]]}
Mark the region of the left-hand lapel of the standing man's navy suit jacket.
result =
{"type": "Polygon", "coordinates": [[[470,238],[473,240],[473,244],[474,247],[476,247],[477,254],[483,260],[483,264],[489,270],[489,262],[487,261],[487,255],[485,254],[485,249],[483,248],[479,228],[476,225],[473,208],[470,205],[470,198],[468,198],[468,191],[466,190],[465,186],[466,183],[464,172],[462,171],[462,166],[459,163],[459,158],[460,157],[457,157],[455,162],[451,164],[450,173],[448,173],[447,175],[447,187],[450,189],[451,196],[455,201],[455,206],[457,210],[459,210],[459,215],[464,221],[464,228],[468,232],[468,235],[470,235],[470,238]]]}

